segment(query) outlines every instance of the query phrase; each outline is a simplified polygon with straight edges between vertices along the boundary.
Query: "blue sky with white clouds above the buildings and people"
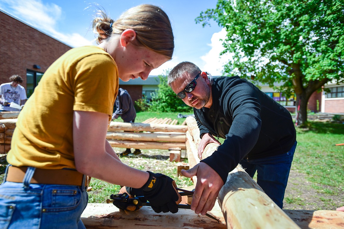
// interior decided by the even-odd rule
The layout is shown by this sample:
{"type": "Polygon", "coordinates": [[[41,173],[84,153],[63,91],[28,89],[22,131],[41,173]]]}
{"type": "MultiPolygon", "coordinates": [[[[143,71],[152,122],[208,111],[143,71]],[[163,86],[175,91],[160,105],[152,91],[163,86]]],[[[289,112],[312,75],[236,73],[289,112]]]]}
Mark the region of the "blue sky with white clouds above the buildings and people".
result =
{"type": "Polygon", "coordinates": [[[38,30],[72,46],[95,44],[91,22],[97,7],[104,8],[116,20],[125,10],[139,4],[154,4],[169,16],[175,37],[172,60],[150,75],[158,75],[182,61],[194,62],[202,71],[213,76],[221,75],[229,55],[219,58],[223,50],[224,30],[215,22],[202,27],[195,23],[201,11],[216,6],[216,0],[0,0],[0,9],[38,30]]]}

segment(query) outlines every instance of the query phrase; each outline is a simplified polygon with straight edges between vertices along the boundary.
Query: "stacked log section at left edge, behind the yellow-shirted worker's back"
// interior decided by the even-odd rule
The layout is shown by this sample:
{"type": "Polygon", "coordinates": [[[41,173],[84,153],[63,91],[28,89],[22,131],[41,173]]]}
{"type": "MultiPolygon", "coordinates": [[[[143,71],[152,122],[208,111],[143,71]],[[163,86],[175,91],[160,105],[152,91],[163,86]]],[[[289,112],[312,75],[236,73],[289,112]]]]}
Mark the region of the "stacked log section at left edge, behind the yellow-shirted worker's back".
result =
{"type": "Polygon", "coordinates": [[[11,140],[16,122],[17,118],[0,120],[0,154],[5,154],[11,149],[11,140]]]}

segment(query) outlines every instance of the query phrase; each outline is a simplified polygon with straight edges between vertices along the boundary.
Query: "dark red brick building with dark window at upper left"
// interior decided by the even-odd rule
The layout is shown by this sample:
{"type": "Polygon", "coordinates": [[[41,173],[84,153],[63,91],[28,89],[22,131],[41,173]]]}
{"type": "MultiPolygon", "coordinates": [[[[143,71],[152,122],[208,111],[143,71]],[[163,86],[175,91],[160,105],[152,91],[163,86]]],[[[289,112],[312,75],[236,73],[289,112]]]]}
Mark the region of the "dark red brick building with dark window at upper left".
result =
{"type": "Polygon", "coordinates": [[[0,84],[12,75],[30,96],[46,69],[72,47],[0,10],[0,84]]]}

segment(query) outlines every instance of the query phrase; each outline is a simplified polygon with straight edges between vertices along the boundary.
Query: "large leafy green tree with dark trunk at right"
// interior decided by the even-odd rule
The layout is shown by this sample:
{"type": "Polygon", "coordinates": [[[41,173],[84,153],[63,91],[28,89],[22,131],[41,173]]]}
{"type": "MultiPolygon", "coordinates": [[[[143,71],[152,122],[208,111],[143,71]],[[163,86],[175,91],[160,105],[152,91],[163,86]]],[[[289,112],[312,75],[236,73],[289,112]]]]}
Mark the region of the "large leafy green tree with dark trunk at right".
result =
{"type": "Polygon", "coordinates": [[[218,0],[196,23],[209,20],[226,29],[222,54],[234,54],[225,72],[295,93],[300,125],[311,94],[344,81],[343,0],[218,0]]]}

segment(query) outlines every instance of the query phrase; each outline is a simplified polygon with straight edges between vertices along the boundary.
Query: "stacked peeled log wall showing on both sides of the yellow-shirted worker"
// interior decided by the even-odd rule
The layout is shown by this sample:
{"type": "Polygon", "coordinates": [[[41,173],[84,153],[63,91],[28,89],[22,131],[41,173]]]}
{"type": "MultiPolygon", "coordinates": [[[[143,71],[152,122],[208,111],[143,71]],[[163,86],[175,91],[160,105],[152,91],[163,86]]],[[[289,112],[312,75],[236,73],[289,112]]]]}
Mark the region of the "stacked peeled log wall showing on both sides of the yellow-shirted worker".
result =
{"type": "MultiPolygon", "coordinates": [[[[161,123],[172,120],[162,119],[161,123]]],[[[0,153],[11,148],[12,134],[17,119],[1,119],[0,153]]],[[[159,123],[111,122],[106,138],[112,147],[135,149],[185,149],[187,126],[159,123]],[[125,132],[124,132],[125,131],[125,132]],[[144,133],[139,133],[144,131],[144,133]]]]}

